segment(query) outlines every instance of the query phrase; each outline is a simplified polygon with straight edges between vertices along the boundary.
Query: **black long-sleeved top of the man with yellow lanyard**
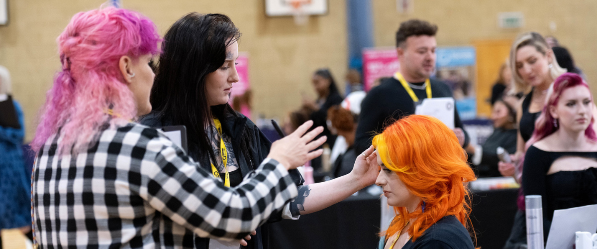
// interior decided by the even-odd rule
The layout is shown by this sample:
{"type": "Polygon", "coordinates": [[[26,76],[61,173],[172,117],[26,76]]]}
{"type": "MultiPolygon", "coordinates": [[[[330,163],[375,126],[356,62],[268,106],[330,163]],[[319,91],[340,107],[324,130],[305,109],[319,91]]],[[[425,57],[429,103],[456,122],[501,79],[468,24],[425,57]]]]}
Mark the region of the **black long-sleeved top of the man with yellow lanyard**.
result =
{"type": "MultiPolygon", "coordinates": [[[[441,81],[430,79],[432,97],[453,97],[450,88],[441,81]]],[[[413,89],[419,100],[427,98],[425,90],[413,89]]],[[[359,125],[356,128],[355,151],[362,153],[371,146],[375,134],[391,124],[393,119],[414,114],[415,104],[398,79],[387,78],[373,88],[361,103],[359,125]]],[[[458,111],[454,108],[454,127],[463,128],[458,111]]],[[[463,129],[464,131],[464,129],[463,129]]],[[[469,135],[464,131],[464,146],[469,144],[469,135]]]]}

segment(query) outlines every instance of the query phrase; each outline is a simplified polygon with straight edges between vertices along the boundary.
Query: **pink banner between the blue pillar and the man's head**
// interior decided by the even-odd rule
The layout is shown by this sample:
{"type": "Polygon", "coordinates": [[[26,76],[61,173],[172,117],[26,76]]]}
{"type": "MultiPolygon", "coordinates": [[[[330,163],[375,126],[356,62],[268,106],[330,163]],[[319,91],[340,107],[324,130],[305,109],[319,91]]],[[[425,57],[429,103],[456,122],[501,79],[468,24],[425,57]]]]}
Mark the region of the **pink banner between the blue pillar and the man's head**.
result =
{"type": "Polygon", "coordinates": [[[400,67],[396,48],[365,48],[362,53],[365,91],[369,91],[376,79],[392,77],[400,67]]]}

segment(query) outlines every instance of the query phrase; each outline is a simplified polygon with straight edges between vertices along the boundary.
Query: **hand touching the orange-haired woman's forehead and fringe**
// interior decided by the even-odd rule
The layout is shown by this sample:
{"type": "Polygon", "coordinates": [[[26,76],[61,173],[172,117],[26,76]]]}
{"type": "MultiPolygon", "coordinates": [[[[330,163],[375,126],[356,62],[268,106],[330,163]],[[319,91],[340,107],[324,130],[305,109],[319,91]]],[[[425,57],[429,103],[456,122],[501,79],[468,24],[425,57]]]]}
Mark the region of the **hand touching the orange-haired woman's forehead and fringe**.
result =
{"type": "Polygon", "coordinates": [[[372,185],[379,174],[379,165],[377,165],[377,154],[373,146],[366,149],[361,155],[356,157],[355,167],[350,171],[355,182],[361,186],[361,189],[372,185]]]}

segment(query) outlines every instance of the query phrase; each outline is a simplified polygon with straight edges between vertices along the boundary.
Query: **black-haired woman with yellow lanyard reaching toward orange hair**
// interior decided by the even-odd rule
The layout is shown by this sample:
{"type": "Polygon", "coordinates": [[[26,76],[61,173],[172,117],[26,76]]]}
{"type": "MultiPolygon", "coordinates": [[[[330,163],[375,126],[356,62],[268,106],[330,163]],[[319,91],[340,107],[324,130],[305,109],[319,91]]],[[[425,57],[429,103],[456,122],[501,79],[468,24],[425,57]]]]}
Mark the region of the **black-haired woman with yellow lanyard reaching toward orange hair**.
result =
{"type": "MultiPolygon", "coordinates": [[[[150,97],[153,111],[141,120],[153,127],[185,125],[188,154],[228,187],[238,186],[259,167],[272,145],[250,119],[228,104],[233,83],[239,80],[236,59],[240,36],[232,20],[223,14],[189,13],[177,20],[162,42],[150,97]]],[[[359,158],[367,161],[372,152],[370,149],[359,158]]],[[[298,197],[269,221],[298,219],[301,214],[347,198],[373,184],[374,168],[355,164],[355,170],[343,179],[307,186],[302,185],[304,180],[297,170],[290,170],[298,197]]],[[[256,236],[247,242],[244,248],[267,248],[267,226],[257,228],[256,236]]],[[[195,239],[195,248],[239,246],[236,241],[195,239]]]]}

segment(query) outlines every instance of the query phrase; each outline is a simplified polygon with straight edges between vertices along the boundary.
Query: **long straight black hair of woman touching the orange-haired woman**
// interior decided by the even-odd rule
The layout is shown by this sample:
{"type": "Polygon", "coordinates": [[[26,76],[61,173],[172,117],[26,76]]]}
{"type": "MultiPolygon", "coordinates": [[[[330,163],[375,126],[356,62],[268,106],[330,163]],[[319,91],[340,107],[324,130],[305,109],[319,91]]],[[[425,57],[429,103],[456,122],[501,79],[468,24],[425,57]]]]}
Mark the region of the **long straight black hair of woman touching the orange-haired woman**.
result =
{"type": "MultiPolygon", "coordinates": [[[[205,132],[211,118],[238,116],[227,103],[208,104],[205,78],[224,64],[226,48],[240,36],[226,15],[199,13],[181,17],[164,35],[150,102],[159,119],[187,127],[189,155],[200,162],[216,160],[205,132]],[[199,155],[194,155],[194,151],[199,151],[199,155]]],[[[251,157],[249,145],[250,137],[245,132],[241,140],[245,158],[251,157]]]]}

